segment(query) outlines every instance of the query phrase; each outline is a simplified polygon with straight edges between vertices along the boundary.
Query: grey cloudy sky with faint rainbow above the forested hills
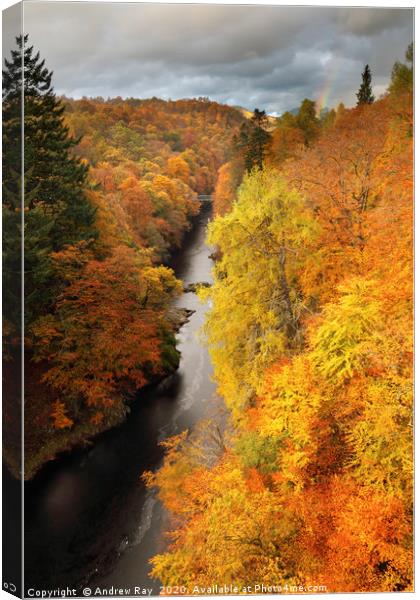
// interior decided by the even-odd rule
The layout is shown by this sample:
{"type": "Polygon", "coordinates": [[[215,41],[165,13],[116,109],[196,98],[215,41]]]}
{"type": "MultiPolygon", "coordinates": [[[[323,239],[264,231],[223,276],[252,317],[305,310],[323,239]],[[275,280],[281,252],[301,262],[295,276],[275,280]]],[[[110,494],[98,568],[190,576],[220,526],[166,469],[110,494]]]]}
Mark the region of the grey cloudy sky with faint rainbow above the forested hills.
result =
{"type": "Polygon", "coordinates": [[[28,2],[25,31],[57,93],[185,98],[282,113],[376,95],[413,39],[410,9],[28,2]]]}

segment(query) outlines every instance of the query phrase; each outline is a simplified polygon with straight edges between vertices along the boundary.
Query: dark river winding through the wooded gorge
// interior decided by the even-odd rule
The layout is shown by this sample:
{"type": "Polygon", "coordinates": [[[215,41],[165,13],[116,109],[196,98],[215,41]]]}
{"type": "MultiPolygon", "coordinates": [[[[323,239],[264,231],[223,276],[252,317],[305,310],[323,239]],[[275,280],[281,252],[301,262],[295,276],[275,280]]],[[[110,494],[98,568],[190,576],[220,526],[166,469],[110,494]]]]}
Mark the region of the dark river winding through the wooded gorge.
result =
{"type": "MultiPolygon", "coordinates": [[[[206,204],[174,259],[186,285],[211,281],[211,249],[205,244],[210,215],[206,204]]],[[[207,307],[193,293],[183,294],[176,305],[196,312],[178,334],[182,358],[170,385],[139,394],[125,423],[26,484],[27,590],[68,586],[80,594],[85,586],[114,586],[134,595],[138,586],[159,593],[159,582],[148,576],[148,561],[165,548],[167,516],[140,476],[161,464],[160,441],[192,428],[221,404],[198,337],[207,307]]]]}

